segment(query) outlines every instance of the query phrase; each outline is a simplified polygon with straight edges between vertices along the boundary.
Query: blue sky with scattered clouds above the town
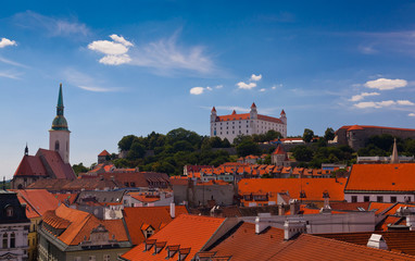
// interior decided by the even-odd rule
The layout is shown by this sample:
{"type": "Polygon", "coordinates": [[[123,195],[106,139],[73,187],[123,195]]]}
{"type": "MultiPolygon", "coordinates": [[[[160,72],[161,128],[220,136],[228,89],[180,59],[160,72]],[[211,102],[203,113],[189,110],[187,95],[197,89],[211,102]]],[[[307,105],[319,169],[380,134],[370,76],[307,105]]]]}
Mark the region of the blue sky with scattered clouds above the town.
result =
{"type": "Polygon", "coordinates": [[[411,1],[13,1],[0,8],[2,175],[48,148],[63,84],[71,163],[128,134],[209,134],[210,110],[304,128],[413,128],[411,1]]]}

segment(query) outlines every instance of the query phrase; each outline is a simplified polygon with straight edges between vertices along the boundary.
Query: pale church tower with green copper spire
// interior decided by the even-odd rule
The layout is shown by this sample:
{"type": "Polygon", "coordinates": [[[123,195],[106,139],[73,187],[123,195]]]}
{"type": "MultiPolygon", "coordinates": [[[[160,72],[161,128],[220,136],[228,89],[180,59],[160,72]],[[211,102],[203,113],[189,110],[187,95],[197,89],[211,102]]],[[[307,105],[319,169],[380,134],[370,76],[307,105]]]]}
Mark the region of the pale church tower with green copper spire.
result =
{"type": "Polygon", "coordinates": [[[62,84],[59,88],[56,116],[53,119],[52,128],[49,130],[49,150],[58,151],[63,162],[70,163],[70,129],[63,115],[62,84]]]}

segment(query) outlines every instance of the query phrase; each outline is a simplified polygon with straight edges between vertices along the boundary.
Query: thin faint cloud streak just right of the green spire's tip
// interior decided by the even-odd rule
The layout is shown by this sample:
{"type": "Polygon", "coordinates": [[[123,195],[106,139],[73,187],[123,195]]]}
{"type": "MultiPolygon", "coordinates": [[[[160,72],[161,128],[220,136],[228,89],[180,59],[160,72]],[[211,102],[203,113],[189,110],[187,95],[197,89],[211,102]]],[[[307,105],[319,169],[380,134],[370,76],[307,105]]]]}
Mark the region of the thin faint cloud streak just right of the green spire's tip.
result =
{"type": "Polygon", "coordinates": [[[70,84],[75,85],[76,87],[84,90],[96,92],[109,92],[121,90],[120,88],[105,87],[104,84],[101,84],[101,80],[96,79],[85,73],[80,73],[74,69],[65,70],[63,72],[63,75],[70,84]]]}

